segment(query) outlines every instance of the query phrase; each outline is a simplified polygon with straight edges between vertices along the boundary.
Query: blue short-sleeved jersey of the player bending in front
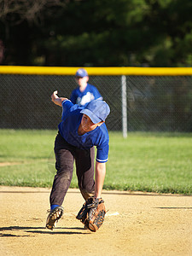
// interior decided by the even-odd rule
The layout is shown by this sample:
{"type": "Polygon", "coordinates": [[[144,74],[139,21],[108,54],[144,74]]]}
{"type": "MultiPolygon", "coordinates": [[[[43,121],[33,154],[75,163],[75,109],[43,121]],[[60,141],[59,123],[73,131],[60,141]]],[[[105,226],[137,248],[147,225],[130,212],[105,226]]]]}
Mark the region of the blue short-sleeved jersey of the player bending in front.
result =
{"type": "Polygon", "coordinates": [[[96,146],[96,161],[105,163],[108,161],[108,129],[103,123],[101,126],[97,126],[95,130],[79,136],[78,128],[83,116],[80,111],[83,108],[77,104],[73,105],[69,100],[62,102],[61,123],[58,125],[59,131],[67,143],[77,148],[88,149],[96,146]]]}

